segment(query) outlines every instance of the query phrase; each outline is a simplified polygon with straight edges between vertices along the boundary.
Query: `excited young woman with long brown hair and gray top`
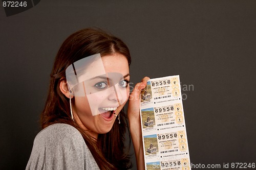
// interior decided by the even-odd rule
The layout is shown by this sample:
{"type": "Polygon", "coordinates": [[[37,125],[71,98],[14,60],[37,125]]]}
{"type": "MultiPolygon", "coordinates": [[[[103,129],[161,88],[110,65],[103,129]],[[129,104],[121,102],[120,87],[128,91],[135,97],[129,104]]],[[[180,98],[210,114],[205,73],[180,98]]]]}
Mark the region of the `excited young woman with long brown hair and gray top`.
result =
{"type": "Polygon", "coordinates": [[[26,169],[129,169],[124,151],[126,115],[137,169],[144,169],[139,116],[140,91],[129,96],[130,52],[100,29],[80,30],[61,45],[51,72],[43,130],[34,140],[26,169]]]}

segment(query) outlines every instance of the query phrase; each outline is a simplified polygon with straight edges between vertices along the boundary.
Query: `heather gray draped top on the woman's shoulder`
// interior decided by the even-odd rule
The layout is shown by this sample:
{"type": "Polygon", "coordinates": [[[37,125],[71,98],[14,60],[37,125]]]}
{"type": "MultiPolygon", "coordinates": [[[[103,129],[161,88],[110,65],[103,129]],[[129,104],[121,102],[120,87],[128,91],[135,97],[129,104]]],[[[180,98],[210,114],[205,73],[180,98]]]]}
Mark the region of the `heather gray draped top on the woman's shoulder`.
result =
{"type": "Polygon", "coordinates": [[[99,169],[82,135],[67,124],[54,124],[34,140],[26,169],[99,169]]]}

